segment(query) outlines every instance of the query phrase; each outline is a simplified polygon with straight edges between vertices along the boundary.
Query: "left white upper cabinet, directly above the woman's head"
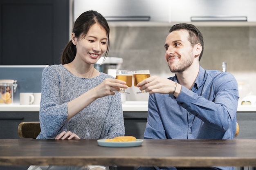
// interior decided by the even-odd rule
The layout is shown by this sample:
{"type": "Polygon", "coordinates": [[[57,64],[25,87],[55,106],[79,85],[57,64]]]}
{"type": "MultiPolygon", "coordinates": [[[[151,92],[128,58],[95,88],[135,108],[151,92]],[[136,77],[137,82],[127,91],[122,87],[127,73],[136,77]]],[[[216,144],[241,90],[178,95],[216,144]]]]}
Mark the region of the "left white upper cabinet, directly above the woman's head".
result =
{"type": "Polygon", "coordinates": [[[108,21],[169,22],[170,0],[74,0],[74,21],[88,10],[108,21]]]}

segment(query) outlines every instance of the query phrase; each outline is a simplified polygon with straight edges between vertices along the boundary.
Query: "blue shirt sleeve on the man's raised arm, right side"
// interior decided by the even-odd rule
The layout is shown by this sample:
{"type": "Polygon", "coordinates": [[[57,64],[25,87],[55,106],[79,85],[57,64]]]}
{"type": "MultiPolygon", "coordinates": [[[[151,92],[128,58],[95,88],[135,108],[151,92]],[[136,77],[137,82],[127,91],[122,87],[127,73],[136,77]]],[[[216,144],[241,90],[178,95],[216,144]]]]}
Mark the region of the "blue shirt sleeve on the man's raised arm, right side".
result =
{"type": "Polygon", "coordinates": [[[236,117],[238,84],[230,73],[224,73],[197,94],[184,86],[177,103],[214,128],[226,131],[236,117]]]}

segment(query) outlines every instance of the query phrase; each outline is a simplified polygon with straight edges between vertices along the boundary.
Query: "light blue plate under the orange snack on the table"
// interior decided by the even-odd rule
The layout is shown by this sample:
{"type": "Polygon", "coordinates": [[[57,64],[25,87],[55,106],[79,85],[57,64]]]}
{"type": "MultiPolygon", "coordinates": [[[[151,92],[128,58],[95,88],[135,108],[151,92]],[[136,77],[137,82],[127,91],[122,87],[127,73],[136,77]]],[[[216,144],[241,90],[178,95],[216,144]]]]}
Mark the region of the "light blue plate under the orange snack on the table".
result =
{"type": "Polygon", "coordinates": [[[105,141],[106,139],[99,139],[97,140],[99,146],[106,146],[106,147],[133,147],[133,146],[141,146],[143,140],[136,139],[136,141],[130,142],[109,142],[105,141]]]}

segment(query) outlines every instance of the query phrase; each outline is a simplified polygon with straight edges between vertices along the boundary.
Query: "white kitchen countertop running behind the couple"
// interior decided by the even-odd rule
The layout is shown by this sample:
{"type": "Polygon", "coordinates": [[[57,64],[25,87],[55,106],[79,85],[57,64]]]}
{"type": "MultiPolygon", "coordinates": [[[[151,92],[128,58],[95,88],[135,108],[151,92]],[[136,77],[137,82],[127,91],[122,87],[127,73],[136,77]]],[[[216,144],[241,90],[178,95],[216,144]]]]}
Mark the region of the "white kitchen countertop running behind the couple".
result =
{"type": "MultiPolygon", "coordinates": [[[[147,112],[147,101],[126,101],[122,104],[124,112],[147,112]]],[[[39,105],[0,104],[0,112],[39,112],[39,105]]],[[[256,112],[256,105],[238,105],[238,112],[256,112]]]]}

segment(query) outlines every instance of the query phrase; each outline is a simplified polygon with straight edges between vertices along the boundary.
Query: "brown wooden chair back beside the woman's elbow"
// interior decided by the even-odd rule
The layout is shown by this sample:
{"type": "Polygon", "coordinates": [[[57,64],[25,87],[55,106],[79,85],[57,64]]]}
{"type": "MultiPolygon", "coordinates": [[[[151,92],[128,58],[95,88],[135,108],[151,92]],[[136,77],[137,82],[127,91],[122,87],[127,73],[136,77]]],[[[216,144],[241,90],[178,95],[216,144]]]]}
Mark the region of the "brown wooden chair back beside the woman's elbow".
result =
{"type": "Polygon", "coordinates": [[[23,121],[18,126],[18,135],[20,138],[36,139],[40,132],[39,121],[23,121]]]}

